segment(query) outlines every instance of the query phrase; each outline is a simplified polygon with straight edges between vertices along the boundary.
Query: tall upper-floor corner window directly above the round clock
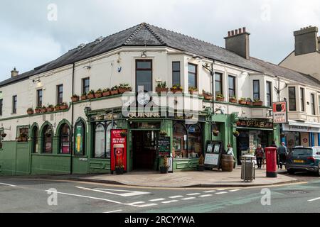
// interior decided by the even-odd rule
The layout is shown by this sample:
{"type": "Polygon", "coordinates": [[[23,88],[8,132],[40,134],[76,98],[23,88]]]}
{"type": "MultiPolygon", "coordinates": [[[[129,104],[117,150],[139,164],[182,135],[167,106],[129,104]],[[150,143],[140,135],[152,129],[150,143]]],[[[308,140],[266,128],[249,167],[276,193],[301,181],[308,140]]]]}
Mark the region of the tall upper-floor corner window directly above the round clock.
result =
{"type": "Polygon", "coordinates": [[[152,60],[136,60],[136,92],[152,91],[152,60]]]}

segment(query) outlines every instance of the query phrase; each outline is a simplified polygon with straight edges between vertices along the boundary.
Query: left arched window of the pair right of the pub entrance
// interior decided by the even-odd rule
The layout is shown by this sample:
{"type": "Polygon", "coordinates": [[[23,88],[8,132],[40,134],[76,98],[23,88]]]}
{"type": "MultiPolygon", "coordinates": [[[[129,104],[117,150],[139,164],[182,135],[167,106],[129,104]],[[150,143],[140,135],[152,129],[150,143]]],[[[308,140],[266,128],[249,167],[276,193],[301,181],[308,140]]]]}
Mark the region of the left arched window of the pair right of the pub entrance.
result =
{"type": "Polygon", "coordinates": [[[174,158],[188,157],[187,138],[188,133],[186,131],[186,126],[181,123],[174,124],[174,158]]]}

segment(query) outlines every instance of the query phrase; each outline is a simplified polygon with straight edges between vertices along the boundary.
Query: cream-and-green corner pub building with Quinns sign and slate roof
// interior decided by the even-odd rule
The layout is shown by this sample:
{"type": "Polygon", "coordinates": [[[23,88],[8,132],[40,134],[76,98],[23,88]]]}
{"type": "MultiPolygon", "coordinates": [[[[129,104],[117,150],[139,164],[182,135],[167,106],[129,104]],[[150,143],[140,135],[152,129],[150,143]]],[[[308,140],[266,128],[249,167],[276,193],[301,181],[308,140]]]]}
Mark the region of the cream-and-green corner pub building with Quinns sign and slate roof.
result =
{"type": "Polygon", "coordinates": [[[292,99],[298,84],[319,92],[319,80],[250,57],[245,28],[220,48],[141,23],[0,82],[0,175],[109,173],[115,128],[127,130],[128,171],[158,169],[160,133],[174,171],[194,170],[208,140],[231,143],[239,161],[258,144],[279,144],[272,103],[292,99]],[[159,98],[159,85],[183,92],[159,98]]]}

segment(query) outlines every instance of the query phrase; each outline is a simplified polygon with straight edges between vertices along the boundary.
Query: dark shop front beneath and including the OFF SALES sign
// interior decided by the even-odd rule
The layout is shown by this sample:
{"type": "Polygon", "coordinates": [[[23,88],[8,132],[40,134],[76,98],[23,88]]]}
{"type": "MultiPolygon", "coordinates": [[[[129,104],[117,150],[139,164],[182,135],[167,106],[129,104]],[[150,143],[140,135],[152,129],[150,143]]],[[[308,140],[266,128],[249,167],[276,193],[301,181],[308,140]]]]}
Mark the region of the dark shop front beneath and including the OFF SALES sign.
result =
{"type": "Polygon", "coordinates": [[[257,119],[239,119],[237,131],[237,159],[241,165],[242,155],[254,155],[257,145],[267,148],[272,144],[274,128],[272,121],[257,119]]]}

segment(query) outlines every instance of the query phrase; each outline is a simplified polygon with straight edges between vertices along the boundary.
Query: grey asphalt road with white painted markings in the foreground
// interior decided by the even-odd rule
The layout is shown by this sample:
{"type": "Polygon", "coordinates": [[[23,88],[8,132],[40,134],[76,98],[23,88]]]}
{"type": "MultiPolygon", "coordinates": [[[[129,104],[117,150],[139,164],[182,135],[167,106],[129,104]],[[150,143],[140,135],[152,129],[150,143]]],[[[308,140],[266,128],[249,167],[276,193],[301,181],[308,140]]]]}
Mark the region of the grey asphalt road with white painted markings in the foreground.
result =
{"type": "Polygon", "coordinates": [[[261,187],[159,189],[48,179],[0,178],[0,212],[309,213],[319,211],[320,178],[305,174],[298,175],[297,178],[305,182],[268,189],[261,187]],[[262,199],[262,196],[265,197],[262,199]],[[262,200],[265,206],[262,205],[262,200]]]}

